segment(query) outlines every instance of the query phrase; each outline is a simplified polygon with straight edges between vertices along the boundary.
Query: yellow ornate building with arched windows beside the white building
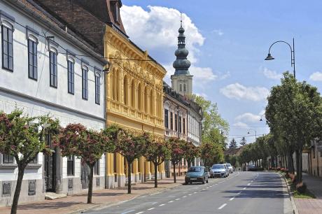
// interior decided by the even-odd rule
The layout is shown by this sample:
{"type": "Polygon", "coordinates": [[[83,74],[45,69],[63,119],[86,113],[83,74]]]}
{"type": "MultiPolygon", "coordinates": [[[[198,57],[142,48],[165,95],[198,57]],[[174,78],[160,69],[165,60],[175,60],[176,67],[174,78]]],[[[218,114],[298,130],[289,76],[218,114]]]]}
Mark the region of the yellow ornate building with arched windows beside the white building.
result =
{"type": "MultiPolygon", "coordinates": [[[[112,2],[112,1],[111,1],[112,2]]],[[[142,51],[125,34],[119,17],[120,1],[111,7],[111,24],[106,25],[104,36],[105,57],[111,62],[110,73],[106,74],[106,125],[136,131],[149,131],[164,137],[163,84],[165,69],[142,51]],[[118,21],[117,21],[118,20],[118,21]],[[133,60],[135,59],[135,60],[133,60]]],[[[132,182],[143,182],[151,178],[153,163],[144,157],[132,165],[132,182]]],[[[106,187],[125,185],[127,164],[120,154],[106,156],[106,187]]],[[[160,165],[158,176],[165,176],[165,166],[160,165]]]]}

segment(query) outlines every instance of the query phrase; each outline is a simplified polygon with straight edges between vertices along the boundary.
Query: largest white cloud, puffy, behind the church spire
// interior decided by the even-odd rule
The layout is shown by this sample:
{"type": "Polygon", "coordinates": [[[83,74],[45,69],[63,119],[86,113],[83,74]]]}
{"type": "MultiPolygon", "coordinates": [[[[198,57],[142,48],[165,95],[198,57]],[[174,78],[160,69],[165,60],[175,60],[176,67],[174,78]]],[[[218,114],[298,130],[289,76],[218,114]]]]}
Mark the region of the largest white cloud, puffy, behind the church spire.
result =
{"type": "MultiPolygon", "coordinates": [[[[144,10],[140,6],[125,6],[121,8],[121,15],[125,31],[131,40],[143,48],[173,48],[176,49],[178,29],[180,27],[179,10],[161,6],[148,6],[144,10]]],[[[198,45],[204,44],[204,36],[185,13],[183,13],[183,27],[187,49],[190,54],[188,59],[197,62],[198,45]]]]}

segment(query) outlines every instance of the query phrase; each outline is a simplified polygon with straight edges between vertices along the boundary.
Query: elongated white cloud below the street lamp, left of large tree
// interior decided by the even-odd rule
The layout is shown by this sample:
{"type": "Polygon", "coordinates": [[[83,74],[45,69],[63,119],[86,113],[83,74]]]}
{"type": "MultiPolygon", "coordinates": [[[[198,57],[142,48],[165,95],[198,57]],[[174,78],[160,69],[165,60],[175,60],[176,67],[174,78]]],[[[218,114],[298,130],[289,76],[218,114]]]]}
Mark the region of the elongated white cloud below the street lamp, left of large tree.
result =
{"type": "Polygon", "coordinates": [[[261,101],[266,99],[269,90],[266,87],[246,87],[239,83],[234,83],[221,88],[221,93],[230,99],[247,99],[251,101],[261,101]]]}

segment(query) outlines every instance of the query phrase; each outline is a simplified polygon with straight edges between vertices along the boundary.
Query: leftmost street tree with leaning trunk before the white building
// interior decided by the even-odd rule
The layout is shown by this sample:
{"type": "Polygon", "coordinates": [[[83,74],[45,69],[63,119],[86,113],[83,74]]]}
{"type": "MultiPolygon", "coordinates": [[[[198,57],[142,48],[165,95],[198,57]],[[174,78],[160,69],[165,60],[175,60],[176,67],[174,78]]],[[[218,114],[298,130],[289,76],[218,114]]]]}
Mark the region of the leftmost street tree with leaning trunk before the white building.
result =
{"type": "Polygon", "coordinates": [[[22,110],[15,109],[11,113],[0,113],[0,152],[15,157],[18,165],[18,179],[13,196],[11,214],[17,213],[25,168],[39,152],[51,155],[46,145],[45,135],[53,138],[59,132],[59,121],[48,115],[29,117],[22,110]]]}

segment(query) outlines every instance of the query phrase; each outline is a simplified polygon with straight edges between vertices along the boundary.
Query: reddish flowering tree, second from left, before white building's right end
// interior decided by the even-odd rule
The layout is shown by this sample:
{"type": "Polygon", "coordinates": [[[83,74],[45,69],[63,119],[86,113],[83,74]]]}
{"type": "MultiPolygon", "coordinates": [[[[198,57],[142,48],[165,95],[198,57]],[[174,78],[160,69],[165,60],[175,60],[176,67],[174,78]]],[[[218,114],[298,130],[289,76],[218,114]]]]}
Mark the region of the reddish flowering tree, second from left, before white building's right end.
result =
{"type": "Polygon", "coordinates": [[[87,204],[91,204],[94,164],[104,153],[113,152],[114,144],[102,132],[88,130],[83,124],[68,124],[59,134],[57,145],[63,157],[75,155],[90,167],[87,204]]]}

